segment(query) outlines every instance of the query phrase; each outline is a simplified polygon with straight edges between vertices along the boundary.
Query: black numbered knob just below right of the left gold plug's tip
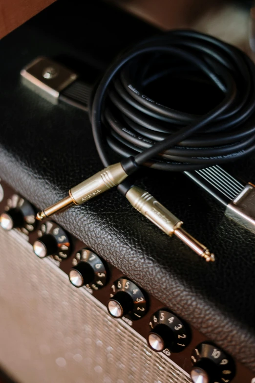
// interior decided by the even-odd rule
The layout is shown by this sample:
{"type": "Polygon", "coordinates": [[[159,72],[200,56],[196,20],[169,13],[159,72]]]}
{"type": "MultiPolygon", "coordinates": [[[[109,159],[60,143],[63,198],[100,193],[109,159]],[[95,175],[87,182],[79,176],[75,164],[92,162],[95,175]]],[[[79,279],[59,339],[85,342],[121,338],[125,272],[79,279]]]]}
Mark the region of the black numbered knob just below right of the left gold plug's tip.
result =
{"type": "Polygon", "coordinates": [[[62,227],[47,221],[40,226],[38,237],[33,248],[39,258],[51,255],[56,261],[61,262],[69,257],[71,252],[70,241],[62,227]]]}

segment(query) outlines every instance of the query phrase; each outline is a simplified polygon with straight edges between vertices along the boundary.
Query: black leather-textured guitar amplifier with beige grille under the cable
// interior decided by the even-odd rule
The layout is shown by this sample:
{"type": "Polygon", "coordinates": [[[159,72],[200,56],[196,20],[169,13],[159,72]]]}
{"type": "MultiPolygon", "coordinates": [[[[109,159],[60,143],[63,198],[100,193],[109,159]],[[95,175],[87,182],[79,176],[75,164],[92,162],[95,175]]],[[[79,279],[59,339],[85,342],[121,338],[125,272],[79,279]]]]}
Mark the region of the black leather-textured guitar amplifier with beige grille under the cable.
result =
{"type": "MultiPolygon", "coordinates": [[[[0,208],[3,226],[16,226],[0,228],[0,365],[21,383],[188,383],[192,368],[199,383],[255,382],[255,237],[183,175],[142,183],[210,245],[214,264],[116,190],[33,219],[102,165],[86,113],[26,89],[21,68],[44,55],[93,82],[154,32],[97,1],[58,1],[0,43],[0,208]]],[[[229,171],[254,180],[254,165],[229,171]]]]}

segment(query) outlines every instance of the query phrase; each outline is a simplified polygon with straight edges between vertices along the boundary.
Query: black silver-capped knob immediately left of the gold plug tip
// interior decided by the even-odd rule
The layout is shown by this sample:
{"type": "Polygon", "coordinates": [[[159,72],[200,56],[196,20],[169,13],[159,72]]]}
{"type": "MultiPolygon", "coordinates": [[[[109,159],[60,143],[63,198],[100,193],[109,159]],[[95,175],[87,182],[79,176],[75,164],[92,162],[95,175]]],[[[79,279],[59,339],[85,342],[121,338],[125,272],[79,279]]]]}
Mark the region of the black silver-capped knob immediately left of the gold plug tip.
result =
{"type": "Polygon", "coordinates": [[[35,209],[31,203],[18,194],[8,198],[4,212],[0,215],[0,226],[4,230],[17,228],[24,234],[29,234],[36,225],[35,209]]]}

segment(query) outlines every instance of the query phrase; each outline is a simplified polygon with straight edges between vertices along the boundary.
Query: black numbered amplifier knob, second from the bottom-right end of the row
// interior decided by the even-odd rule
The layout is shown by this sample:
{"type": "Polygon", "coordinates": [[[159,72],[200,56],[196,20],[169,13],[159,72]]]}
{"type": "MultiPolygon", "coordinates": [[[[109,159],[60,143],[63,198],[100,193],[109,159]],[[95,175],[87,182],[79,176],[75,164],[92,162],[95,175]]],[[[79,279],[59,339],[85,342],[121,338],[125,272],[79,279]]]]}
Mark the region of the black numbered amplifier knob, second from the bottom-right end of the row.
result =
{"type": "Polygon", "coordinates": [[[191,337],[187,327],[176,315],[167,310],[159,310],[151,316],[148,336],[149,347],[165,354],[180,352],[190,343],[191,337]]]}

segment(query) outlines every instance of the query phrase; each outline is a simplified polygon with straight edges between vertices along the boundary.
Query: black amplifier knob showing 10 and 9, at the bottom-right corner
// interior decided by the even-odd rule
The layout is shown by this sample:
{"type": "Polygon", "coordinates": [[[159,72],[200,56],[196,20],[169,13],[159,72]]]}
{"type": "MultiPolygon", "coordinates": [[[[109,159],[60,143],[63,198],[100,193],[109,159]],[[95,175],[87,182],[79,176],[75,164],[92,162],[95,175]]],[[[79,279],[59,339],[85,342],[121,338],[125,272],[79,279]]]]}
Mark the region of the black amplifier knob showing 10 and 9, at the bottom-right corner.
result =
{"type": "Polygon", "coordinates": [[[234,378],[234,360],[211,343],[200,343],[193,350],[191,361],[194,383],[230,383],[234,378]]]}

